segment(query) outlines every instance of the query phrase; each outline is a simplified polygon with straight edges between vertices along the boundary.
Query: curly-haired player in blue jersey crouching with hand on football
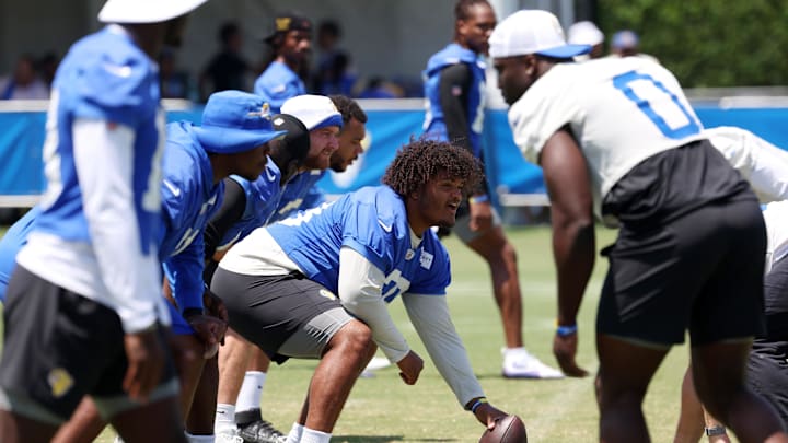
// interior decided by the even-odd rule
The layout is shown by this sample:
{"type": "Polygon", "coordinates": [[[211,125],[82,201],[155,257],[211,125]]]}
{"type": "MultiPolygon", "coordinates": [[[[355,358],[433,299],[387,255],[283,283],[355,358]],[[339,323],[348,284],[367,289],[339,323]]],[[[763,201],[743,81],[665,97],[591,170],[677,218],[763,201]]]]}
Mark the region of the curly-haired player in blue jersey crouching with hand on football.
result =
{"type": "Polygon", "coordinates": [[[449,316],[449,255],[430,226],[454,224],[482,172],[445,142],[405,145],[384,186],[254,231],[219,264],[211,289],[230,326],[271,360],[321,359],[288,442],[328,442],[358,375],[380,346],[415,384],[424,361],[386,303],[402,295],[436,366],[466,409],[493,427],[506,413],[484,400],[449,316]]]}

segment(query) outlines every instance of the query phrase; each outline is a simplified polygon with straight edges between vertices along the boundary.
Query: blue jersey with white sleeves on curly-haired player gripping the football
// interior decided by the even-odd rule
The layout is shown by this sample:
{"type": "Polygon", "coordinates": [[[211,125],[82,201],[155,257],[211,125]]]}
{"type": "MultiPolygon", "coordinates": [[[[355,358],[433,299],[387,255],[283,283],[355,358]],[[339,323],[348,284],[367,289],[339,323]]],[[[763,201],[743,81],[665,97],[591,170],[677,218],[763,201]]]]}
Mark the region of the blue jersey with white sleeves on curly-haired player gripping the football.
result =
{"type": "Polygon", "coordinates": [[[219,268],[242,276],[303,273],[369,325],[375,343],[394,362],[410,351],[387,310],[401,296],[436,366],[465,405],[484,392],[451,324],[449,254],[431,230],[420,234],[410,229],[405,203],[394,190],[367,187],[255,230],[219,268]]]}

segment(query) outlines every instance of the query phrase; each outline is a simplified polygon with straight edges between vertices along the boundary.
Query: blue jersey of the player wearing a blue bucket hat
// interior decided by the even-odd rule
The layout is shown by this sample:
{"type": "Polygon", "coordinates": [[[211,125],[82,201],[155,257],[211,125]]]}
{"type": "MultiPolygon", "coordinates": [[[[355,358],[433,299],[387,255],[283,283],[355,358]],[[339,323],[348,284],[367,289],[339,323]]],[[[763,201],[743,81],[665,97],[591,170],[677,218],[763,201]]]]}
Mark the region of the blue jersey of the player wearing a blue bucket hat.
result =
{"type": "Polygon", "coordinates": [[[221,207],[224,183],[213,184],[208,153],[192,131],[190,123],[167,125],[162,182],[164,230],[160,258],[181,312],[202,307],[202,234],[221,207]]]}

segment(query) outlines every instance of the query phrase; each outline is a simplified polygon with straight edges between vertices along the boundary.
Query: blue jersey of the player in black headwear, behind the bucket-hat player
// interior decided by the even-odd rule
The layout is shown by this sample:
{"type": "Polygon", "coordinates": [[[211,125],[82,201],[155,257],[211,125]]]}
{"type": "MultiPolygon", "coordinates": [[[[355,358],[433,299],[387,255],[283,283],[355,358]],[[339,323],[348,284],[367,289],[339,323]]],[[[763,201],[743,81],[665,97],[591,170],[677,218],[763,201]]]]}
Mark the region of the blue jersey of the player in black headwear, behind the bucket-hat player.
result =
{"type": "Polygon", "coordinates": [[[233,245],[255,229],[265,225],[276,211],[282,191],[279,186],[281,172],[270,158],[266,162],[265,172],[256,180],[250,182],[237,175],[231,175],[230,178],[243,188],[246,206],[241,219],[230,226],[219,243],[218,248],[222,249],[233,245]]]}

